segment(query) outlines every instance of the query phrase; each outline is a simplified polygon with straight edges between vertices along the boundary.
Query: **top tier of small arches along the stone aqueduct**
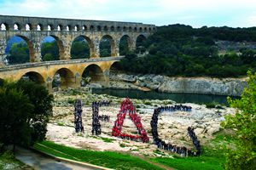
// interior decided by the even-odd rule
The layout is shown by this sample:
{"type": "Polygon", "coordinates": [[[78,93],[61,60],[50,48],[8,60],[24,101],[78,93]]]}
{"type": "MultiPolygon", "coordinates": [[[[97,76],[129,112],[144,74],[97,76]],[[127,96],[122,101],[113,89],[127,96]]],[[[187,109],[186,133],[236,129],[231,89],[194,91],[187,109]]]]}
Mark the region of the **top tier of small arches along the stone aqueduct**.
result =
{"type": "Polygon", "coordinates": [[[71,20],[0,15],[1,31],[127,31],[151,32],[156,26],[136,22],[71,20]]]}

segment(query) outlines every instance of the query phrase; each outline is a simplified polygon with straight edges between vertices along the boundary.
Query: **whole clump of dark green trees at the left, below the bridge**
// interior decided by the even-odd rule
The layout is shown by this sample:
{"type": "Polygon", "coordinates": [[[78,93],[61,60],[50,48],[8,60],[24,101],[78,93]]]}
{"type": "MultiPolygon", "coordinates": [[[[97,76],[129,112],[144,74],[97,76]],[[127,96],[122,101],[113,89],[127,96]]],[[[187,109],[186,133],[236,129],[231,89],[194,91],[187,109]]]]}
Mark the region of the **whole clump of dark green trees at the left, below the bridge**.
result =
{"type": "Polygon", "coordinates": [[[45,138],[53,96],[35,82],[4,82],[0,87],[0,145],[29,145],[45,138]]]}

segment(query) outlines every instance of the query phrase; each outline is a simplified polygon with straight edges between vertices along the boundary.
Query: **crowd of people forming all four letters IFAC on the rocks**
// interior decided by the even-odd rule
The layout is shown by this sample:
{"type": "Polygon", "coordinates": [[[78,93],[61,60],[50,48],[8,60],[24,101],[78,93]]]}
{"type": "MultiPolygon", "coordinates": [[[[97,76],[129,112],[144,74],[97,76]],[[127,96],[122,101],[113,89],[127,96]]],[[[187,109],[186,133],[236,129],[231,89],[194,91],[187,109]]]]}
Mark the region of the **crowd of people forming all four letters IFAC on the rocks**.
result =
{"type": "MultiPolygon", "coordinates": [[[[109,106],[110,101],[95,101],[92,102],[92,135],[99,135],[102,133],[102,127],[100,121],[109,122],[110,116],[101,115],[99,116],[99,107],[101,106],[109,106]]],[[[159,138],[157,125],[158,125],[158,117],[160,113],[163,111],[192,111],[191,106],[187,105],[169,105],[169,106],[160,106],[154,109],[154,113],[152,116],[152,120],[150,122],[151,125],[151,132],[154,139],[154,144],[157,145],[159,149],[169,150],[174,153],[177,153],[181,156],[200,156],[201,155],[201,145],[200,141],[197,139],[194,128],[188,127],[188,135],[192,140],[195,150],[187,149],[184,146],[177,146],[173,144],[166,144],[166,142],[159,138]]],[[[84,133],[84,126],[82,122],[82,100],[76,99],[74,104],[74,125],[76,133],[84,133]]],[[[142,141],[143,143],[148,143],[149,138],[146,130],[143,128],[143,124],[141,122],[141,117],[137,116],[136,108],[133,106],[131,100],[127,97],[125,100],[122,101],[120,105],[120,111],[117,114],[117,119],[114,122],[112,128],[112,135],[115,137],[119,137],[121,139],[130,139],[133,141],[142,141]],[[134,122],[135,126],[137,127],[138,135],[132,135],[127,133],[122,133],[122,127],[125,121],[125,116],[128,114],[131,118],[131,121],[134,122]]]]}

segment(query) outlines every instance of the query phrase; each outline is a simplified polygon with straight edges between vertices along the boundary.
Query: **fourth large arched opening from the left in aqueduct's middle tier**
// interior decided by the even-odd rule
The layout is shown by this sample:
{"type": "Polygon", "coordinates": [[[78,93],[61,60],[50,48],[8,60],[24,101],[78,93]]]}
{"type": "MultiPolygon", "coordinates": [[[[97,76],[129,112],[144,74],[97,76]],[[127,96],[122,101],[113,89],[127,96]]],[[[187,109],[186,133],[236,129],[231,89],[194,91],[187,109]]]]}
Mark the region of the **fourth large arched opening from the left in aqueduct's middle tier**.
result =
{"type": "Polygon", "coordinates": [[[115,54],[113,37],[108,35],[103,36],[100,42],[100,56],[110,57],[115,55],[116,54],[115,54]]]}

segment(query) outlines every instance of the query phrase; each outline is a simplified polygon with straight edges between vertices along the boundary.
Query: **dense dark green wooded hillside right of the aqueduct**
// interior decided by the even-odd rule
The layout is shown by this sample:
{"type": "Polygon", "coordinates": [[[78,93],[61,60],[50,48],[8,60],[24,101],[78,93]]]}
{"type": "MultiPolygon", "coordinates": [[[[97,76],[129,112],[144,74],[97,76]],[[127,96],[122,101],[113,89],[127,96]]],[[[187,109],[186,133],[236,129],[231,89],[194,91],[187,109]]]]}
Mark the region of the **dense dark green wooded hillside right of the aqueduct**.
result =
{"type": "Polygon", "coordinates": [[[215,42],[256,41],[253,33],[256,28],[160,26],[141,44],[148,54],[128,54],[121,66],[125,71],[167,76],[243,76],[247,70],[256,70],[256,50],[241,48],[239,53],[219,54],[215,42]]]}

